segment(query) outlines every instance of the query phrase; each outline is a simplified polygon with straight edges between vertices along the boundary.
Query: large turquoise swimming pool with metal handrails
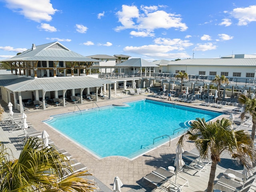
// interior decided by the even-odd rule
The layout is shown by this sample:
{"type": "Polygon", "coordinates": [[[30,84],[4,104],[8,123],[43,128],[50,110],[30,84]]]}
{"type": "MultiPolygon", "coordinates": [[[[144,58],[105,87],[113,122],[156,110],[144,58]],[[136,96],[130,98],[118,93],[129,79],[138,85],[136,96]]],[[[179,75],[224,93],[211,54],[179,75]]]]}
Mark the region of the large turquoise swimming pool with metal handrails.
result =
{"type": "Polygon", "coordinates": [[[187,121],[197,117],[209,121],[220,115],[148,99],[126,104],[130,107],[106,106],[60,114],[45,122],[98,158],[133,159],[187,130],[187,121]]]}

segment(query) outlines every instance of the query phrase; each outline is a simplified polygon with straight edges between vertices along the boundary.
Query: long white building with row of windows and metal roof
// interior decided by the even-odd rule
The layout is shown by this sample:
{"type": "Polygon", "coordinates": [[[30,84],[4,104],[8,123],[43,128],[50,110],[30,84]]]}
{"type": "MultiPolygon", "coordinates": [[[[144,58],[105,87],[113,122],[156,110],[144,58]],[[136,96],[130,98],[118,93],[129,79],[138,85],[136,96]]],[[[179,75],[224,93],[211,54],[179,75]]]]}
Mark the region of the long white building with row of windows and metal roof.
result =
{"type": "Polygon", "coordinates": [[[162,60],[152,62],[158,64],[162,72],[176,74],[186,72],[191,75],[254,78],[256,58],[212,58],[212,59],[183,59],[177,61],[162,60]]]}

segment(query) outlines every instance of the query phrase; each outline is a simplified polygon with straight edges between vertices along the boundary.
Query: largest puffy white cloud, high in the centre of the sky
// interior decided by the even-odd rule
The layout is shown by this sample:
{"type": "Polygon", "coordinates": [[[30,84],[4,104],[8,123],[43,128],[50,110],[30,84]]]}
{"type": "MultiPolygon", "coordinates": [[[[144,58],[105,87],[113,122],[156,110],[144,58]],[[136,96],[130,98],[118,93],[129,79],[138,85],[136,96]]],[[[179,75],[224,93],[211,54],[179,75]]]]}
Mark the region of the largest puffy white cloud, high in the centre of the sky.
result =
{"type": "Polygon", "coordinates": [[[115,30],[137,29],[153,32],[158,28],[175,28],[180,29],[180,31],[188,29],[186,24],[181,22],[182,19],[179,14],[157,10],[157,6],[141,6],[141,9],[144,11],[142,14],[140,14],[137,6],[122,5],[122,11],[116,13],[118,22],[122,26],[117,26],[115,30]]]}

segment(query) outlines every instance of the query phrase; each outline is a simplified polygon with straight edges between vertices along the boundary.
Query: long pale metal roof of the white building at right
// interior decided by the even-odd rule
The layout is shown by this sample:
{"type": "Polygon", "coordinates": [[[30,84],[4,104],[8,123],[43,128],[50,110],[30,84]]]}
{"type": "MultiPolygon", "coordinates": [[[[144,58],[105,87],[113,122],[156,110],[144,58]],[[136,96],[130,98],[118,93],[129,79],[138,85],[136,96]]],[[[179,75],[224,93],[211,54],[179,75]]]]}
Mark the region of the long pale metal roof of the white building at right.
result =
{"type": "Polygon", "coordinates": [[[256,66],[256,58],[183,59],[169,65],[187,66],[256,66]]]}

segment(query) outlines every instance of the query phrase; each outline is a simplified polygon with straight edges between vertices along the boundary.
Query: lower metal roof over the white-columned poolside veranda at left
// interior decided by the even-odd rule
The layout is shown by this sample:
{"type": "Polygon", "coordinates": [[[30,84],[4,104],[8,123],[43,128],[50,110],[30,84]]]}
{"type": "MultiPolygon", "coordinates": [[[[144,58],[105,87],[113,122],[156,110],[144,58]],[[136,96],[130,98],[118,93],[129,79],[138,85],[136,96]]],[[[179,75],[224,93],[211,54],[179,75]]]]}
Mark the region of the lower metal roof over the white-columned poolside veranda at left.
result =
{"type": "Polygon", "coordinates": [[[114,82],[109,80],[102,80],[88,76],[78,77],[58,77],[58,78],[17,78],[5,85],[7,89],[13,92],[44,90],[57,91],[90,87],[101,87],[103,84],[112,84],[114,82]]]}

